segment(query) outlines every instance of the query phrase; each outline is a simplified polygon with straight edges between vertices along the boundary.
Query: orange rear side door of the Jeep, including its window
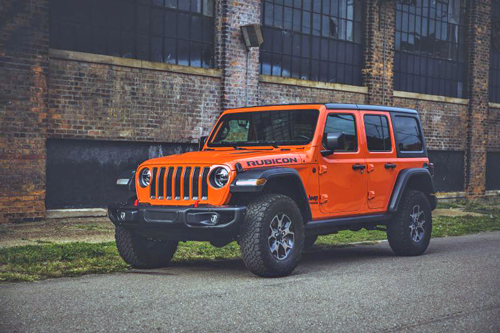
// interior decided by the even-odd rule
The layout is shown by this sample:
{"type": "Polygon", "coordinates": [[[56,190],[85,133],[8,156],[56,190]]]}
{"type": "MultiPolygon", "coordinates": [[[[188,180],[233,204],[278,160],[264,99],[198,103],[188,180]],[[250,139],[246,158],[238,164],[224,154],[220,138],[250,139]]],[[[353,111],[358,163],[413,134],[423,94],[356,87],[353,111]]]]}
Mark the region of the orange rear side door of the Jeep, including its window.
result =
{"type": "Polygon", "coordinates": [[[363,119],[368,208],[385,210],[399,172],[389,112],[361,111],[363,119]]]}

